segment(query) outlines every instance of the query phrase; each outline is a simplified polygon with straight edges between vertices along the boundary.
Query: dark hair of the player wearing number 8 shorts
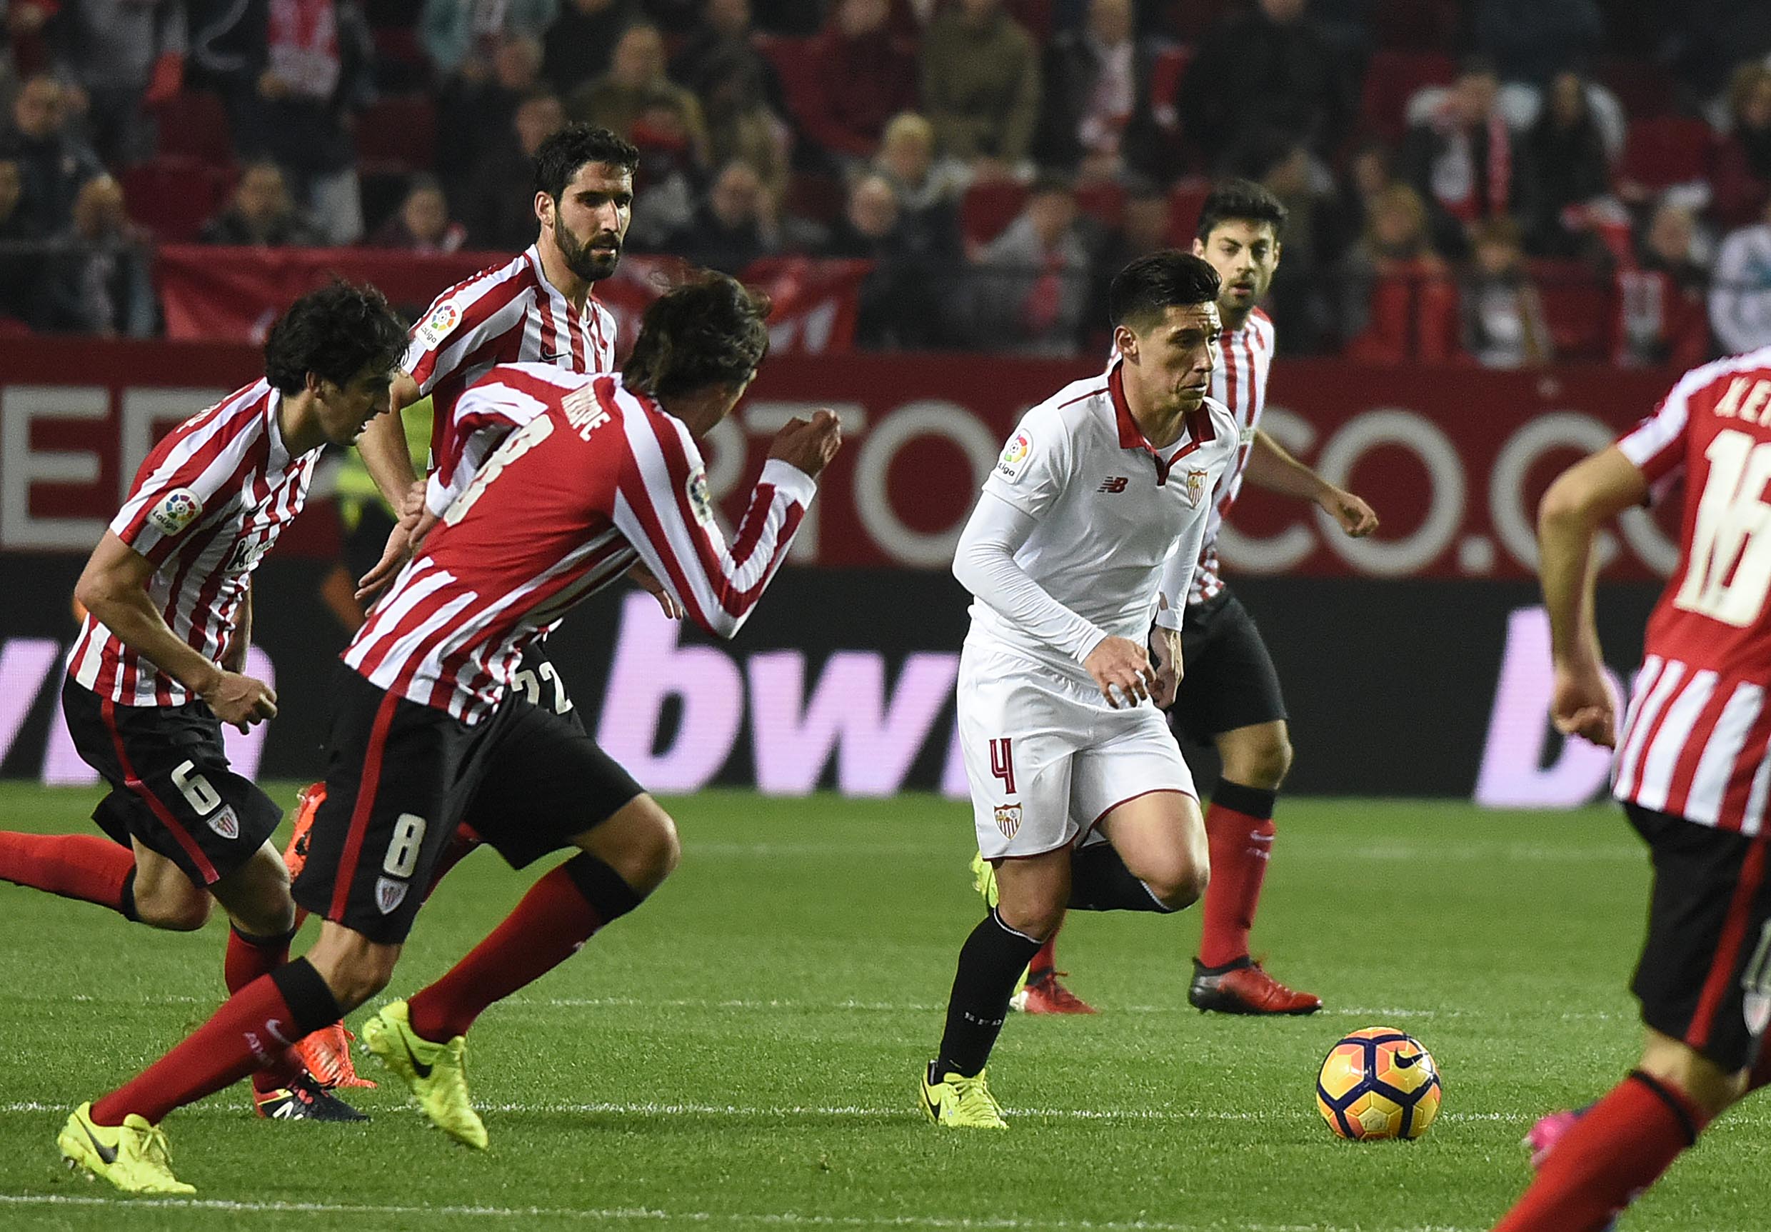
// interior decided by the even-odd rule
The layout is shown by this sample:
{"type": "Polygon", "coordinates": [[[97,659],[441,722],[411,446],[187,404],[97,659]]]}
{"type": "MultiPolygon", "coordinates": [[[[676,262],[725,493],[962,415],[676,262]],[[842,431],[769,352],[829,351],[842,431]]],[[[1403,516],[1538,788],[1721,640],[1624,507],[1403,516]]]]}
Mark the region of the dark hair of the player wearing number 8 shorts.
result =
{"type": "Polygon", "coordinates": [[[769,306],[737,278],[696,273],[646,308],[623,382],[653,398],[742,384],[769,352],[769,306]]]}

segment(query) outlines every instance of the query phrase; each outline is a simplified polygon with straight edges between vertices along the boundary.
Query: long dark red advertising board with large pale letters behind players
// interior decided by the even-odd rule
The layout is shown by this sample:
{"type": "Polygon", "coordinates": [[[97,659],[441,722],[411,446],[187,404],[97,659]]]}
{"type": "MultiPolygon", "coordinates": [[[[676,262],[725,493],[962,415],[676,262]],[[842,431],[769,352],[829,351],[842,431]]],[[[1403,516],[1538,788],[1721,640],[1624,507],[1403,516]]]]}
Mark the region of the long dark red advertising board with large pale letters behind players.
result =
{"type": "MultiPolygon", "coordinates": [[[[248,345],[0,340],[0,551],[90,549],[158,435],[257,370],[248,345]]],[[[735,510],[776,428],[832,407],[848,443],[825,473],[793,559],[944,570],[1015,420],[1089,372],[983,356],[770,356],[744,405],[703,444],[708,487],[735,510]]],[[[1675,375],[1280,359],[1268,430],[1365,496],[1383,526],[1369,540],[1348,540],[1326,515],[1245,489],[1224,533],[1226,566],[1241,575],[1527,579],[1544,487],[1645,414],[1675,375]]],[[[299,551],[298,540],[285,545],[299,551]]],[[[1642,510],[1619,520],[1605,551],[1620,579],[1663,575],[1675,556],[1674,540],[1642,510]]]]}

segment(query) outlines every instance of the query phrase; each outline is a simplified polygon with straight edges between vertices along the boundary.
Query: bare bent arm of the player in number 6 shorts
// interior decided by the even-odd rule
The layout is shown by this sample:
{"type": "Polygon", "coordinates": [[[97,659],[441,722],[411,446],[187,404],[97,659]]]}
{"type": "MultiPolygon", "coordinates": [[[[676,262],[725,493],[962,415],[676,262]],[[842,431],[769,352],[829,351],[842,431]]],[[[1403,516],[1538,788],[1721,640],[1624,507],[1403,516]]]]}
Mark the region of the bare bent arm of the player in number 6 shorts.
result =
{"type": "Polygon", "coordinates": [[[74,584],[74,598],[117,639],[195,692],[221,722],[243,731],[276,715],[276,692],[262,680],[227,671],[172,632],[147,593],[154,563],[104,531],[74,584]]]}

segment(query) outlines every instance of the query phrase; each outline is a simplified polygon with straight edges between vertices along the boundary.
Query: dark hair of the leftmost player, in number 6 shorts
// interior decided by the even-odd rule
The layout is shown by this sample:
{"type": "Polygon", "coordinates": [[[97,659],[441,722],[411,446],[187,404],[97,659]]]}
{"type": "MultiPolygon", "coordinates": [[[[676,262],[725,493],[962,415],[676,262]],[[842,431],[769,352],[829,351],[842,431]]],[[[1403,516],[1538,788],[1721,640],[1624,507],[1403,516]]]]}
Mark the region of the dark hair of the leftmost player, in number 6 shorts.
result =
{"type": "Polygon", "coordinates": [[[406,326],[374,287],[333,281],[310,290],[276,319],[264,340],[264,379],[301,393],[308,373],[345,384],[363,368],[391,372],[406,350],[406,326]]]}

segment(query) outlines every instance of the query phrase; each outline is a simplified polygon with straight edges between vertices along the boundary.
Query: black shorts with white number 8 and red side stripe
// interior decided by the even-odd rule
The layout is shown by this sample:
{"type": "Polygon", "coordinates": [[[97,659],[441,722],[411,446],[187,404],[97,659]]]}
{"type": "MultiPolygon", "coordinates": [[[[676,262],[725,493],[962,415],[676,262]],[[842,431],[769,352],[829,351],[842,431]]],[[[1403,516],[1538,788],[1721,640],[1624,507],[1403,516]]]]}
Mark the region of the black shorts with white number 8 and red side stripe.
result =
{"type": "Polygon", "coordinates": [[[328,745],[296,901],[372,942],[406,938],[462,821],[522,867],[641,793],[581,726],[521,696],[469,726],[344,664],[328,745]]]}

